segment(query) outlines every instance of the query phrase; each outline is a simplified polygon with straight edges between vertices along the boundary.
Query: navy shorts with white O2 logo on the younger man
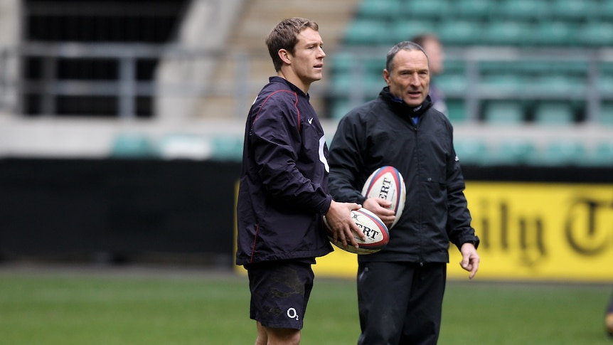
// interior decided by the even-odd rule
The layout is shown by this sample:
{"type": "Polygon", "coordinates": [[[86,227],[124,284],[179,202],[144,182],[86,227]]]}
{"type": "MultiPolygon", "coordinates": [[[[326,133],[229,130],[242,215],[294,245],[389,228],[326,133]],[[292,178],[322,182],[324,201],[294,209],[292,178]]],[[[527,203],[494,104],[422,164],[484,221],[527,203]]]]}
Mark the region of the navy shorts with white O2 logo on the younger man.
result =
{"type": "Polygon", "coordinates": [[[302,329],[313,288],[311,264],[279,260],[245,268],[251,290],[251,319],[264,327],[302,329]]]}

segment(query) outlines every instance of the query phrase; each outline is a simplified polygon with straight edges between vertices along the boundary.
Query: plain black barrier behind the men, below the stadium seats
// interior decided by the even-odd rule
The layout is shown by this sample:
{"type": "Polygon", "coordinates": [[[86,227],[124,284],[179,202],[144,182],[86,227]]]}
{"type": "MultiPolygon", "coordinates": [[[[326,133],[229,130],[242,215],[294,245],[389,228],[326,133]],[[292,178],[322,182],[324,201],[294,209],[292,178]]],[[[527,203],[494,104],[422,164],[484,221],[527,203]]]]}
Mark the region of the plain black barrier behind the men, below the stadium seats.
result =
{"type": "MultiPolygon", "coordinates": [[[[467,181],[613,181],[613,167],[463,170],[467,181]]],[[[233,161],[0,159],[0,257],[156,253],[232,265],[239,174],[233,161]]]]}

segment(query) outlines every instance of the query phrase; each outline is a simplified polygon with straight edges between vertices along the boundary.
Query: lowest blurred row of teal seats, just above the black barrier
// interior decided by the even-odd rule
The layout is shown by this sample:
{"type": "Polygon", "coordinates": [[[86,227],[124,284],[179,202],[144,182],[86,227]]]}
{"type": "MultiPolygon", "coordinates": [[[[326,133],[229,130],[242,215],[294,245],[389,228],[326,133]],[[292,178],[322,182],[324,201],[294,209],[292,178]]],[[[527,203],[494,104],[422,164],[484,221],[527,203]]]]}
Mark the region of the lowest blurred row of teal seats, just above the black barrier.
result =
{"type": "MultiPolygon", "coordinates": [[[[549,140],[537,145],[529,139],[501,139],[496,144],[479,137],[455,140],[464,164],[474,165],[578,165],[613,164],[613,139],[587,145],[567,139],[549,140]]],[[[242,137],[172,134],[154,139],[142,133],[119,134],[112,143],[114,158],[216,159],[240,161],[242,137]]]]}

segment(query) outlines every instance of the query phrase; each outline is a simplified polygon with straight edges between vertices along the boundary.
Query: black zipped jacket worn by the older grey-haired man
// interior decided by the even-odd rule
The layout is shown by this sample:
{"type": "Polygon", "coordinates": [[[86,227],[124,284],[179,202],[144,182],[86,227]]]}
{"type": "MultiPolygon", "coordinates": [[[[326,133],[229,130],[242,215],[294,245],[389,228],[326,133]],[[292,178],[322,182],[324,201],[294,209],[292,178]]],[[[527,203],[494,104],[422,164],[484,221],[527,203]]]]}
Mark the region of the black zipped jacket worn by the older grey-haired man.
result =
{"type": "Polygon", "coordinates": [[[405,209],[390,230],[390,243],[359,260],[449,262],[449,241],[458,248],[467,242],[478,245],[452,124],[432,108],[430,97],[412,108],[385,87],[378,98],[339,122],[329,163],[330,192],[337,201],[363,203],[362,186],[380,166],[395,166],[405,179],[405,209]]]}

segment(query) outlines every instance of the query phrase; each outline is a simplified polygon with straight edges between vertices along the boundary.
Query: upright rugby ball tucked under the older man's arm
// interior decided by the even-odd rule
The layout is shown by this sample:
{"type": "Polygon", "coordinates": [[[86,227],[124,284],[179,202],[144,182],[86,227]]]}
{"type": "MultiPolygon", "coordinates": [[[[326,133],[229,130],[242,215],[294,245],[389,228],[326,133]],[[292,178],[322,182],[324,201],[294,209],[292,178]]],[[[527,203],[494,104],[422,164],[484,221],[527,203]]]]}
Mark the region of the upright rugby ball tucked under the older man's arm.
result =
{"type": "Polygon", "coordinates": [[[407,199],[407,186],[398,169],[393,166],[381,166],[366,179],[362,195],[366,198],[384,198],[391,201],[390,210],[396,213],[396,218],[390,225],[391,229],[403,215],[407,199]]]}

